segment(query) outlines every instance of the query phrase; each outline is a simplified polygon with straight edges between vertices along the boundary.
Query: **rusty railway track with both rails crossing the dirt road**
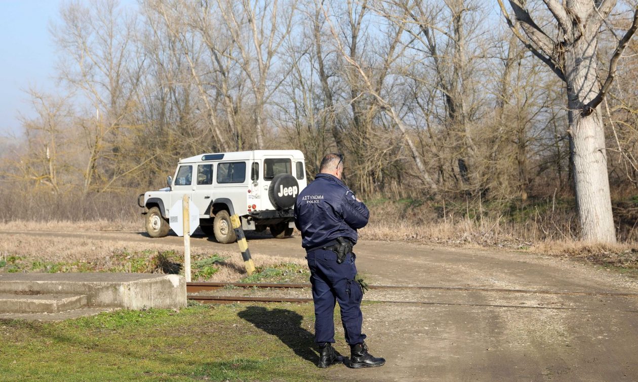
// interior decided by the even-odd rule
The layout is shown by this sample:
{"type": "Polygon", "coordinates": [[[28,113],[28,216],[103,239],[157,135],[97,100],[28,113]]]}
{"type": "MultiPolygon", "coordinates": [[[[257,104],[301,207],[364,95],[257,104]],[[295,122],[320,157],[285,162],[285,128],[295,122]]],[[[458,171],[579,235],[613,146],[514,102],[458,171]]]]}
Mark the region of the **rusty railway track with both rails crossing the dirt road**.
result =
{"type": "MultiPolygon", "coordinates": [[[[189,300],[202,302],[204,304],[232,304],[235,302],[312,302],[311,298],[303,297],[263,297],[263,296],[239,296],[239,295],[204,295],[202,292],[212,292],[215,290],[234,288],[273,288],[273,289],[300,289],[310,288],[309,283],[285,284],[285,283],[186,283],[186,292],[189,300]]],[[[460,292],[493,292],[498,294],[543,294],[543,295],[566,295],[566,296],[597,296],[597,297],[631,297],[638,299],[638,294],[623,292],[586,292],[586,291],[553,291],[553,290],[528,290],[528,289],[507,289],[507,288],[468,288],[456,286],[403,286],[403,285],[371,285],[373,290],[449,290],[460,292]]],[[[566,309],[566,310],[617,310],[617,309],[596,309],[596,308],[565,308],[556,306],[516,306],[499,304],[457,304],[446,302],[428,301],[389,301],[389,300],[368,300],[376,302],[389,302],[394,304],[426,304],[426,305],[471,305],[489,306],[498,308],[525,308],[525,309],[566,309]]],[[[638,313],[637,310],[621,310],[627,313],[638,313]]]]}

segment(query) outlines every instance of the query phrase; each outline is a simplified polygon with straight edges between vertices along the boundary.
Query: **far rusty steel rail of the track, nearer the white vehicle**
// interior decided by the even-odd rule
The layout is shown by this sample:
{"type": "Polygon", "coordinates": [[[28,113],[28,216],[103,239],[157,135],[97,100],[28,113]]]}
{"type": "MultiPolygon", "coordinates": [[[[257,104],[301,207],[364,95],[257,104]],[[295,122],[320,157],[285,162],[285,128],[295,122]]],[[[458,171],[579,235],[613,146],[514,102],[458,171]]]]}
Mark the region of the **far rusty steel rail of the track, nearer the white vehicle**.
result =
{"type": "MultiPolygon", "coordinates": [[[[205,290],[217,290],[225,286],[237,286],[241,288],[310,288],[307,283],[186,283],[188,293],[202,292],[205,290]]],[[[549,294],[549,295],[587,295],[609,297],[638,297],[637,293],[623,292],[584,292],[584,291],[556,291],[533,289],[507,289],[507,288],[467,288],[463,286],[407,286],[407,285],[370,285],[371,289],[420,289],[420,290],[453,290],[461,292],[498,292],[519,294],[549,294]]]]}

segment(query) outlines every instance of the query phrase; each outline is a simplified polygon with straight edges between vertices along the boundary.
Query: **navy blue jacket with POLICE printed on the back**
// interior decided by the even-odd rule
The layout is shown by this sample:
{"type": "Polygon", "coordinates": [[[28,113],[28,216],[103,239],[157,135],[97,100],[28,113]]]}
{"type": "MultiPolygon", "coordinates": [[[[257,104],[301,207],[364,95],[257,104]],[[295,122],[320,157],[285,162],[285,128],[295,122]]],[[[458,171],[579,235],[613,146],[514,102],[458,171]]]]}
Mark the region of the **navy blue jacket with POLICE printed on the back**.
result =
{"type": "Polygon", "coordinates": [[[316,248],[348,237],[357,243],[357,229],[370,217],[365,204],[343,181],[332,174],[319,173],[295,201],[295,225],[301,231],[301,246],[316,248]]]}

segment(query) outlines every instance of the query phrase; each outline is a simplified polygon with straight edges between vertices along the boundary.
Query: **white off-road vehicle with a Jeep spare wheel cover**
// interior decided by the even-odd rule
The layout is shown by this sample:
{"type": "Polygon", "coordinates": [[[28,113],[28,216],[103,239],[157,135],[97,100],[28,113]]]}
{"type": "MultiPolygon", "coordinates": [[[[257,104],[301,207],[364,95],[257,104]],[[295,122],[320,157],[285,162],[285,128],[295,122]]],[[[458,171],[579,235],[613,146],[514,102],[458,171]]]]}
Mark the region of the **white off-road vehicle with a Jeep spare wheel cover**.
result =
{"type": "Polygon", "coordinates": [[[283,238],[292,235],[292,208],[306,184],[299,150],[208,153],[179,160],[168,187],[145,192],[137,202],[151,237],[167,236],[168,210],[187,194],[200,211],[200,229],[219,243],[237,239],[230,223],[234,214],[244,230],[269,228],[283,238]]]}

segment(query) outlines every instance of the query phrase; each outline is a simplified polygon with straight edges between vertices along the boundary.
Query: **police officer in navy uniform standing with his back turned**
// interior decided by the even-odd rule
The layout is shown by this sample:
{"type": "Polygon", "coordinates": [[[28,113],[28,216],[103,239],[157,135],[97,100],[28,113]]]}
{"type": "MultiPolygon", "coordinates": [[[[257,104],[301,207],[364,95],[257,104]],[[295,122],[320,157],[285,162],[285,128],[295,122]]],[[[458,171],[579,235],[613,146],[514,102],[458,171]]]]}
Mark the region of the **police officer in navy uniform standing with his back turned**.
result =
{"type": "Polygon", "coordinates": [[[315,180],[304,188],[295,202],[295,225],[301,231],[302,247],[310,268],[315,301],[315,342],[320,348],[319,367],[342,362],[334,343],[334,304],[339,302],[346,343],[350,345],[349,367],[385,364],[367,352],[366,335],[361,332],[363,290],[355,281],[357,267],[352,246],[357,229],[364,227],[369,211],[343,181],[343,156],[326,155],[315,180]]]}

